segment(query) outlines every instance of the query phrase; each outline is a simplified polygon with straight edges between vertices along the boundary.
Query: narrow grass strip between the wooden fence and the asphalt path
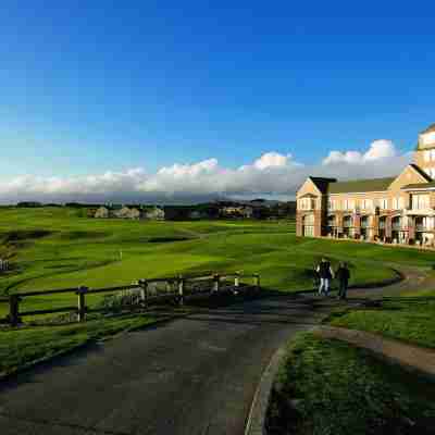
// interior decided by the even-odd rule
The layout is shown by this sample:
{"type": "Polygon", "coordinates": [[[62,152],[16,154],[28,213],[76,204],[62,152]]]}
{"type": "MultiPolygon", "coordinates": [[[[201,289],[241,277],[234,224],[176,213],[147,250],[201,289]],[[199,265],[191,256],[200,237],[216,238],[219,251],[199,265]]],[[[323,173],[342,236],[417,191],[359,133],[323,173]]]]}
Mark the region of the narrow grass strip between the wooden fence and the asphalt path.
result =
{"type": "Polygon", "coordinates": [[[153,323],[146,315],[124,315],[58,326],[21,327],[0,332],[0,377],[40,359],[74,349],[98,338],[153,323]]]}

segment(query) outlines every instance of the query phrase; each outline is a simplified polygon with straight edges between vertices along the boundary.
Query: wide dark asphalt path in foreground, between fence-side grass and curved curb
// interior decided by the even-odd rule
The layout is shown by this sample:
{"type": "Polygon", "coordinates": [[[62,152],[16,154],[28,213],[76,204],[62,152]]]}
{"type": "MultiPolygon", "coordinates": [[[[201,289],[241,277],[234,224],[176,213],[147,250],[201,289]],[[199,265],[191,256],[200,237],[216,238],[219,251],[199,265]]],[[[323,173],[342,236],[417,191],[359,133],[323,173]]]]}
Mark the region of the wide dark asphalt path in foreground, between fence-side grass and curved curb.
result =
{"type": "Polygon", "coordinates": [[[331,303],[245,302],[57,359],[0,386],[0,434],[241,435],[272,355],[331,303]]]}

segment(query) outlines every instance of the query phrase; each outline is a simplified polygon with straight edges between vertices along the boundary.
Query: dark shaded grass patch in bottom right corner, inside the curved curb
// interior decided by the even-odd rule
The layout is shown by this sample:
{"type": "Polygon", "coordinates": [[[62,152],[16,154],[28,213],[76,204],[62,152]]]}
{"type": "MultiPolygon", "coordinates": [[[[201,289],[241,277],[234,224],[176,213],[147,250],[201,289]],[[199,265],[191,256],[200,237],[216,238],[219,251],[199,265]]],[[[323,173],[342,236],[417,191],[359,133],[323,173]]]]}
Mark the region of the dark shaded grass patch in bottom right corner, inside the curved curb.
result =
{"type": "Polygon", "coordinates": [[[398,366],[341,341],[302,334],[278,372],[268,433],[432,434],[434,399],[432,385],[398,366]]]}

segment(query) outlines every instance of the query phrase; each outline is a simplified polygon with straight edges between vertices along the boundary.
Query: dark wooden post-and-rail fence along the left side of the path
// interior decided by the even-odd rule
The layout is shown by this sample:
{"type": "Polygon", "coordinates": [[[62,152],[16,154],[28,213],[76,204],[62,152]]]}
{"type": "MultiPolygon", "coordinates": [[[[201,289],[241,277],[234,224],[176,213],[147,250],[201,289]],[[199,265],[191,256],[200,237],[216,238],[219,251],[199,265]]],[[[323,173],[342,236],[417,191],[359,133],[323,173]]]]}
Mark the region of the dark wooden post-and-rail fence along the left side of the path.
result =
{"type": "MultiPolygon", "coordinates": [[[[176,277],[162,277],[152,279],[139,279],[136,284],[116,286],[116,287],[105,287],[105,288],[88,288],[85,286],[74,287],[74,288],[63,288],[57,290],[35,290],[25,291],[20,294],[10,295],[5,298],[0,298],[0,302],[9,303],[9,314],[2,320],[2,323],[9,323],[12,326],[16,326],[22,323],[22,318],[34,316],[42,314],[55,314],[65,312],[75,312],[77,315],[77,322],[84,322],[86,320],[86,314],[89,312],[107,311],[107,308],[89,308],[86,306],[86,297],[88,295],[97,294],[120,294],[125,291],[133,291],[136,296],[137,307],[146,309],[150,304],[164,303],[169,301],[175,301],[178,304],[184,304],[185,299],[189,296],[197,294],[219,294],[222,290],[223,284],[228,284],[228,279],[232,279],[231,288],[233,291],[237,291],[241,288],[241,279],[250,278],[252,279],[251,287],[260,288],[260,275],[259,274],[225,274],[225,275],[201,275],[201,276],[176,276],[176,277]],[[159,283],[166,283],[171,288],[169,291],[151,291],[152,285],[158,285],[159,283]],[[189,289],[190,284],[210,284],[206,287],[202,285],[201,290],[189,289]],[[46,310],[32,310],[32,311],[21,311],[20,303],[29,297],[48,296],[48,295],[61,295],[61,294],[73,294],[77,297],[77,306],[52,308],[46,310]]],[[[192,286],[195,287],[195,286],[192,286]]],[[[246,286],[244,287],[246,288],[246,286]]]]}

